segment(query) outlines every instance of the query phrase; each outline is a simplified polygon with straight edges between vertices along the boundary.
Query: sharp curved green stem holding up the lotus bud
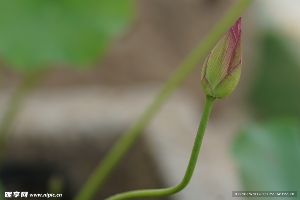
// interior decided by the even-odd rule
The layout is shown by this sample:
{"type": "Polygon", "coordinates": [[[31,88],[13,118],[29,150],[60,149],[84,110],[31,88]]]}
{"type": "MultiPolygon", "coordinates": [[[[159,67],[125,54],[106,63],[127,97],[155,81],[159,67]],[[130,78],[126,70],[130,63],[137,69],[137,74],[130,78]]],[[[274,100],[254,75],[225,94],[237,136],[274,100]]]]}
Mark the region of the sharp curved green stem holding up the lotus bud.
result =
{"type": "Polygon", "coordinates": [[[190,161],[187,166],[187,171],[185,172],[185,175],[180,184],[174,187],[163,188],[163,189],[133,190],[125,193],[116,194],[104,200],[125,200],[125,199],[135,199],[135,198],[143,198],[143,197],[168,196],[168,195],[178,193],[179,191],[184,189],[187,186],[187,184],[190,182],[190,179],[192,178],[196,166],[197,158],[199,155],[202,139],[204,136],[206,124],[208,121],[208,117],[211,111],[212,104],[214,103],[215,99],[216,97],[211,97],[206,95],[206,102],[203,109],[199,128],[197,131],[196,139],[194,142],[192,154],[190,156],[190,161]]]}

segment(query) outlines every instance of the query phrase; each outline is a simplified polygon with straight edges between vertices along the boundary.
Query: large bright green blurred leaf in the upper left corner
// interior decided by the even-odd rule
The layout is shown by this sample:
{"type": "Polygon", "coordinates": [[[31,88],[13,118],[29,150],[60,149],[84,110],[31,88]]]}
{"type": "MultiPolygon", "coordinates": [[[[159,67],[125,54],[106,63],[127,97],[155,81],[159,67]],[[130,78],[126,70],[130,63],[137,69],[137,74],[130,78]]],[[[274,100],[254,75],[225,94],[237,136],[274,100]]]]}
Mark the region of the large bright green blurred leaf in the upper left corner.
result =
{"type": "Polygon", "coordinates": [[[28,71],[97,60],[133,17],[132,0],[0,0],[0,56],[28,71]]]}

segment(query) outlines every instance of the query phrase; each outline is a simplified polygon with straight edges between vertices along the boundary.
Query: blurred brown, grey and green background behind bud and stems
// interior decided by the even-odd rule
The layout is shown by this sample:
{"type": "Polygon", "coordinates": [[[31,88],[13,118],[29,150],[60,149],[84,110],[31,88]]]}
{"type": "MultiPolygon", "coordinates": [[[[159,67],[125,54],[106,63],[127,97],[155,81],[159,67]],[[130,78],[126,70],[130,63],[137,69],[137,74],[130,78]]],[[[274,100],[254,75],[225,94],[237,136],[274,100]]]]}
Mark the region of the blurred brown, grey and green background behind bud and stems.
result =
{"type": "MultiPolygon", "coordinates": [[[[72,199],[234,2],[1,0],[2,127],[10,124],[7,110],[18,107],[13,98],[24,96],[15,92],[24,77],[36,84],[10,127],[0,128],[8,133],[0,193],[72,199]]],[[[214,103],[193,178],[182,192],[152,199],[225,200],[233,199],[232,191],[300,188],[299,8],[298,0],[263,0],[243,13],[241,78],[232,94],[214,103]]],[[[202,64],[95,199],[182,180],[205,102],[202,64]]]]}

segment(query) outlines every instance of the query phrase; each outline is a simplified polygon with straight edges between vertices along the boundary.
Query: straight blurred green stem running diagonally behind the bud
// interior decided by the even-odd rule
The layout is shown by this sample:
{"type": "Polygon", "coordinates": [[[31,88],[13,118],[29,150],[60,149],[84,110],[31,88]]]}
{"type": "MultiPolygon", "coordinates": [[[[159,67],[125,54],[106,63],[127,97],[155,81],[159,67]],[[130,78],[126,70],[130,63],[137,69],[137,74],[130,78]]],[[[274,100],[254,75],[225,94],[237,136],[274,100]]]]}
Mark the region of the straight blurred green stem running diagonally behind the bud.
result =
{"type": "Polygon", "coordinates": [[[121,138],[113,145],[108,154],[89,176],[82,189],[77,193],[74,200],[88,200],[96,193],[105,179],[113,171],[114,167],[125,155],[141,131],[170,97],[176,88],[196,68],[199,62],[208,54],[209,50],[217,43],[233,22],[241,15],[253,0],[238,0],[220,21],[209,31],[196,48],[180,64],[177,70],[167,80],[155,100],[150,104],[140,118],[130,127],[121,138]]]}

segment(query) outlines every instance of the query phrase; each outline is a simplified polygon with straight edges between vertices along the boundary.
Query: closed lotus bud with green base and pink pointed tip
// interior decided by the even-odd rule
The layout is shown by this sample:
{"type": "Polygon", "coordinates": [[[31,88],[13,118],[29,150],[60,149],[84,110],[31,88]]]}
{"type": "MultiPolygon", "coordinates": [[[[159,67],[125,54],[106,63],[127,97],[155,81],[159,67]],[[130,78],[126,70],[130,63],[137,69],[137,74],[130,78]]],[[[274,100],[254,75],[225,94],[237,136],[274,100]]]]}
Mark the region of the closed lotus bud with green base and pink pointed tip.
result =
{"type": "Polygon", "coordinates": [[[208,54],[201,72],[205,94],[222,99],[238,84],[242,66],[241,18],[208,54]]]}

